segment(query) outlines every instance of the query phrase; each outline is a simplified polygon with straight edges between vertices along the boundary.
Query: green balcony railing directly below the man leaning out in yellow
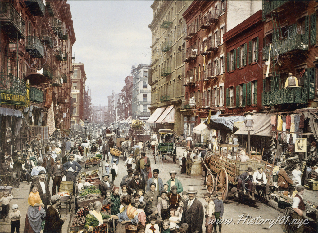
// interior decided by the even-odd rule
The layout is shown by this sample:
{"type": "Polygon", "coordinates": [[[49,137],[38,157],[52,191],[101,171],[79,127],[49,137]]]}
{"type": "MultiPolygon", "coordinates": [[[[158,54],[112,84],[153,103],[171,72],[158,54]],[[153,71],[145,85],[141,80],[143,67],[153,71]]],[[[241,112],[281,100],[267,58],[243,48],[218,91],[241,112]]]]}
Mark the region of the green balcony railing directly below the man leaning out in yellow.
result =
{"type": "Polygon", "coordinates": [[[306,88],[292,87],[262,93],[263,106],[286,103],[307,103],[306,88]]]}

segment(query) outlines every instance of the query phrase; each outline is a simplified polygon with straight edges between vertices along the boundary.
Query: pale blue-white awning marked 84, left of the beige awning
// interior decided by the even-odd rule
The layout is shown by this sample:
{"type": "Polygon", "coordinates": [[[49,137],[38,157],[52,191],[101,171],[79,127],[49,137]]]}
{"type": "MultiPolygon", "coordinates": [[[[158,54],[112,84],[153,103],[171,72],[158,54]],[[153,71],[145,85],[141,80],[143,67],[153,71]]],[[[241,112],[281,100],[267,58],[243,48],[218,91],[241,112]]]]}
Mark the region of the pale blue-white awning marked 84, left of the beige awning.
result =
{"type": "MultiPolygon", "coordinates": [[[[243,116],[231,116],[231,117],[219,117],[220,111],[217,114],[211,116],[210,120],[210,127],[211,129],[215,130],[226,130],[230,129],[233,130],[233,126],[235,122],[242,122],[244,121],[243,116]]],[[[205,120],[206,123],[208,120],[205,120]]]]}

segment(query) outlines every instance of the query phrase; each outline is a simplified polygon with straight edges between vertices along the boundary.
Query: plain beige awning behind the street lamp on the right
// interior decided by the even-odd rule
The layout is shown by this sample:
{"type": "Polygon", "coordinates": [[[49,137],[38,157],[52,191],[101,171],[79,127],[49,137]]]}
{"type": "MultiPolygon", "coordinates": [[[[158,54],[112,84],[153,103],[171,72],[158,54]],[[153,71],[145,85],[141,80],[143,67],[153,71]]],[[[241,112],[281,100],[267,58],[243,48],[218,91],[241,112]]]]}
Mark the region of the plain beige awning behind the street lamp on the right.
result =
{"type": "MultiPolygon", "coordinates": [[[[270,137],[273,135],[272,133],[272,124],[271,124],[271,115],[270,114],[260,114],[256,115],[254,114],[253,116],[254,119],[254,124],[253,128],[250,132],[250,135],[257,135],[257,136],[267,136],[270,137]]],[[[248,135],[248,132],[245,128],[245,124],[234,134],[243,134],[243,135],[248,135]]]]}

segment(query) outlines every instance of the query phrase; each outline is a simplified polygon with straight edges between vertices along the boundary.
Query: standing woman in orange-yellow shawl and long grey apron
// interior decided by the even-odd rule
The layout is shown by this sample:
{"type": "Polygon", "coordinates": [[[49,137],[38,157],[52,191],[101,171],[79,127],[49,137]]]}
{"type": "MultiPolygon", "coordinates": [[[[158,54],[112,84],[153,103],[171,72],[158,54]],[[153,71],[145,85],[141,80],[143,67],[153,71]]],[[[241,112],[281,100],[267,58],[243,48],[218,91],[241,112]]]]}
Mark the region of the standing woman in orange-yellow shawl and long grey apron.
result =
{"type": "Polygon", "coordinates": [[[39,233],[42,230],[42,219],[46,213],[40,194],[38,193],[38,184],[31,185],[32,192],[29,194],[29,208],[25,218],[24,233],[39,233]]]}

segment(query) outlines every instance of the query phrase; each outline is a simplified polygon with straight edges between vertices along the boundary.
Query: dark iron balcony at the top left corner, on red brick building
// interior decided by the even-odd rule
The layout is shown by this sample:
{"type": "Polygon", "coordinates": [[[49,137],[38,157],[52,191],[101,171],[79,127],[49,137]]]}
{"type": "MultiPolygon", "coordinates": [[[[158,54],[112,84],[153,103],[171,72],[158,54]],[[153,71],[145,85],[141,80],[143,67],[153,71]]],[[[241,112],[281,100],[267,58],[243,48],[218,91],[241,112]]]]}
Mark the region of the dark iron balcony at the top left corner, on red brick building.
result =
{"type": "Polygon", "coordinates": [[[8,2],[1,2],[0,6],[1,29],[3,29],[10,38],[24,38],[25,22],[17,10],[8,2]]]}

